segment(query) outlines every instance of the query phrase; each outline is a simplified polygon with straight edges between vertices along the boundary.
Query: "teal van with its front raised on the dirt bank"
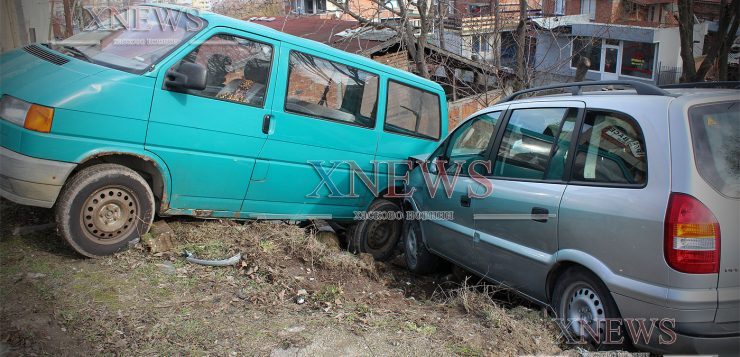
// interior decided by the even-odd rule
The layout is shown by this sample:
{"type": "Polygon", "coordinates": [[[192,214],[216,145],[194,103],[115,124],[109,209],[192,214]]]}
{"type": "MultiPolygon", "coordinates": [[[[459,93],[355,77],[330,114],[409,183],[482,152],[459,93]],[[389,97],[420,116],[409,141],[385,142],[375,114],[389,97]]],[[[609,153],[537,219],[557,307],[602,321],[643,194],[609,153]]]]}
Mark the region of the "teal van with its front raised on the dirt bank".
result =
{"type": "MultiPolygon", "coordinates": [[[[0,57],[2,197],[54,207],[89,257],[125,248],[155,215],[341,222],[397,210],[385,193],[403,183],[374,161],[430,152],[447,134],[438,84],[369,58],[176,6],[93,20],[0,57]]],[[[400,235],[398,222],[348,226],[350,247],[379,259],[400,235]]]]}

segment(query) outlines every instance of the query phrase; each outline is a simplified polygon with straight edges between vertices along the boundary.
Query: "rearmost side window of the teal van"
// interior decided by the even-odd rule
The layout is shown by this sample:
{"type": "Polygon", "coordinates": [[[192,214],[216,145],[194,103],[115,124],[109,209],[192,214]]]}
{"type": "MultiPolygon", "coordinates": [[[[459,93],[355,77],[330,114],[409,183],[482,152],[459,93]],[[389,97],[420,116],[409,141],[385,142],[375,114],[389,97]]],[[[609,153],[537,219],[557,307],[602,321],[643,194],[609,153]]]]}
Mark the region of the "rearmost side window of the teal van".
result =
{"type": "Polygon", "coordinates": [[[439,95],[388,81],[386,131],[425,139],[439,139],[439,95]]]}

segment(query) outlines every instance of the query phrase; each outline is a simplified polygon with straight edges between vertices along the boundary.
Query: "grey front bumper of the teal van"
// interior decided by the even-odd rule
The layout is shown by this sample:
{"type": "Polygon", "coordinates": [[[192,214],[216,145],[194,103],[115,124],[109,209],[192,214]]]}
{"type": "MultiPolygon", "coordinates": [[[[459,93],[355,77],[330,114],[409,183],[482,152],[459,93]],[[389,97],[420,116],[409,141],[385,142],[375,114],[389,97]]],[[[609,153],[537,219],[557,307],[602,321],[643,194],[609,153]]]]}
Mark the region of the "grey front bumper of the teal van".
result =
{"type": "Polygon", "coordinates": [[[0,147],[0,196],[22,205],[49,208],[75,166],[0,147]]]}

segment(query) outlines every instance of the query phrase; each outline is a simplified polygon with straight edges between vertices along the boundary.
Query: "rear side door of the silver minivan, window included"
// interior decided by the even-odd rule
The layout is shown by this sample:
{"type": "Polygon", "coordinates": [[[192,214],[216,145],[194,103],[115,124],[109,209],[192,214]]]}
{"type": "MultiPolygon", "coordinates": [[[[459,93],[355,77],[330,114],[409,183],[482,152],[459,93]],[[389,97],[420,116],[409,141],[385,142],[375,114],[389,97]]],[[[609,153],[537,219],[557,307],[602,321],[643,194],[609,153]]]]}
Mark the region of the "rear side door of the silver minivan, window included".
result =
{"type": "Polygon", "coordinates": [[[558,210],[578,101],[512,104],[490,155],[491,195],[473,200],[475,270],[543,300],[558,249],[558,210]]]}

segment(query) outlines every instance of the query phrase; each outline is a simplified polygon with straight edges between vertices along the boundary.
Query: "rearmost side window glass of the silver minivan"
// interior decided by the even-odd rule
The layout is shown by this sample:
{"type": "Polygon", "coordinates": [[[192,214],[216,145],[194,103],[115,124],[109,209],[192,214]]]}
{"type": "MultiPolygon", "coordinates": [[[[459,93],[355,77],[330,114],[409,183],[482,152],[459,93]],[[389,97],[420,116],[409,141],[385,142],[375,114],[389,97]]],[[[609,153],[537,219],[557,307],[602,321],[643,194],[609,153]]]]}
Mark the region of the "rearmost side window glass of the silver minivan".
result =
{"type": "Polygon", "coordinates": [[[647,179],[645,139],[634,119],[588,111],[578,138],[573,180],[642,185],[647,179]]]}

